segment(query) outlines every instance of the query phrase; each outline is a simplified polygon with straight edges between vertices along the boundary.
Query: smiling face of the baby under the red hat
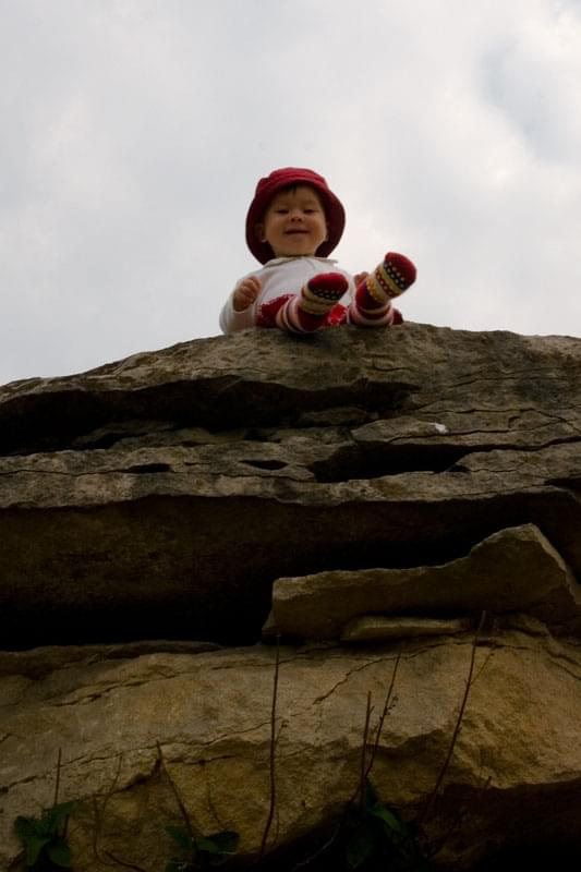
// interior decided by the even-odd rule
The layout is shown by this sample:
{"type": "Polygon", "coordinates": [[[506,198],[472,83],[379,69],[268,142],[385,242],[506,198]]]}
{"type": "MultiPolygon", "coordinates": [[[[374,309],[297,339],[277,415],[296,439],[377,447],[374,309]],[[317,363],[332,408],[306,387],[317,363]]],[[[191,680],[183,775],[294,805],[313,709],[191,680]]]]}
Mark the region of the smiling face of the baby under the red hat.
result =
{"type": "Polygon", "coordinates": [[[262,242],[275,257],[313,257],[327,239],[325,210],[317,192],[306,184],[276,194],[256,225],[262,242]]]}

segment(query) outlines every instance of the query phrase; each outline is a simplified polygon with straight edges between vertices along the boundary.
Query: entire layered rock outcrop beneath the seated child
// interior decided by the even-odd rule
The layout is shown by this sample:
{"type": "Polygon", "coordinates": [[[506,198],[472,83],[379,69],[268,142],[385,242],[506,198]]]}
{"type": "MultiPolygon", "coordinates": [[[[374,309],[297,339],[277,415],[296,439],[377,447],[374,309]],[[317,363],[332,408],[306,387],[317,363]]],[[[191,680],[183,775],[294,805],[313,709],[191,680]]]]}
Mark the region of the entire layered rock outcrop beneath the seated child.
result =
{"type": "Polygon", "coordinates": [[[0,868],[59,749],[73,869],[164,869],[174,788],[256,858],[275,637],[269,852],[340,818],[396,668],[371,777],[434,862],[581,857],[581,340],[197,340],[0,388],[0,868]]]}

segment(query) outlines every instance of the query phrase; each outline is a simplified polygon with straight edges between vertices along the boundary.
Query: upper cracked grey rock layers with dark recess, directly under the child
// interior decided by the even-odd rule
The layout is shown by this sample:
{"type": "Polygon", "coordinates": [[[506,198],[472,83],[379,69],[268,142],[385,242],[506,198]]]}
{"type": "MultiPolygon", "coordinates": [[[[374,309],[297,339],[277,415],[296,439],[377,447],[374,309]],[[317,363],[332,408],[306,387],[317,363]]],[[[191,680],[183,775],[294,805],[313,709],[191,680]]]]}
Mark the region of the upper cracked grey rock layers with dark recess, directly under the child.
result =
{"type": "Polygon", "coordinates": [[[534,524],[581,573],[581,342],[251,331],[0,388],[4,646],[252,642],[279,577],[534,524]]]}

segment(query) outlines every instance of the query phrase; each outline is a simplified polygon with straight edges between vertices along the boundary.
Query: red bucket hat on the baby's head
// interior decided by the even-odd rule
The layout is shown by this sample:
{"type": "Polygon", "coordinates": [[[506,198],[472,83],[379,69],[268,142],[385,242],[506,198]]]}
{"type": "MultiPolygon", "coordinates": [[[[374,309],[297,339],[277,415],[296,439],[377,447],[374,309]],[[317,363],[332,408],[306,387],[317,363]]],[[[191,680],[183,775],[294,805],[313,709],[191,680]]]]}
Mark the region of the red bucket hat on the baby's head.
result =
{"type": "Polygon", "coordinates": [[[327,219],[328,239],[322,242],[317,249],[317,257],[327,257],[338,244],[343,234],[344,209],[338,197],[329,190],[327,182],[317,172],[296,167],[285,167],[280,170],[273,170],[270,175],[261,179],[256,185],[256,193],[246,215],[246,244],[253,255],[266,264],[273,257],[273,250],[268,242],[261,242],[255,233],[256,225],[262,220],[266,208],[275,194],[282,187],[293,184],[308,184],[314,187],[320,197],[327,219]]]}

